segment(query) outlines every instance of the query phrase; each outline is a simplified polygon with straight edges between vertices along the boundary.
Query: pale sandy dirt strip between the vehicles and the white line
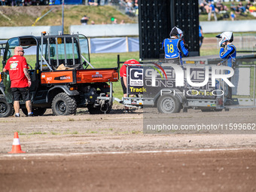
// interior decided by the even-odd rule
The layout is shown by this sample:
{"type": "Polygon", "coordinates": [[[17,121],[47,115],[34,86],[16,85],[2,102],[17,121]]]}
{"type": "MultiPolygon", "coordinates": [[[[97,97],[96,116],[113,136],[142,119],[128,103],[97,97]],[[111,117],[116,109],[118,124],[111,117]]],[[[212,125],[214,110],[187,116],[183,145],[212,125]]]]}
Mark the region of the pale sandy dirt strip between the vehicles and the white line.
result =
{"type": "MultiPolygon", "coordinates": [[[[254,148],[256,134],[143,134],[143,111],[122,114],[53,116],[51,111],[42,117],[8,117],[0,120],[0,154],[11,151],[14,132],[20,133],[23,151],[28,153],[140,151],[179,148],[254,148]]],[[[172,122],[254,122],[255,109],[239,109],[203,113],[172,114],[172,122]]]]}

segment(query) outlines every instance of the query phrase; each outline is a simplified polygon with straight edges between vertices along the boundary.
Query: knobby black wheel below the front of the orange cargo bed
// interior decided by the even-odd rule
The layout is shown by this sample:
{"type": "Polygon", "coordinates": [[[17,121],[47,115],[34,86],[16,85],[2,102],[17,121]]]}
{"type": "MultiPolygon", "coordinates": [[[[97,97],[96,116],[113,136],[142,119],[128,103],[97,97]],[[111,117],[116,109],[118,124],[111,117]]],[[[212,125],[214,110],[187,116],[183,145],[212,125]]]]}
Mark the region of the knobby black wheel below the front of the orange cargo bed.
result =
{"type": "Polygon", "coordinates": [[[59,93],[53,98],[51,108],[54,115],[75,114],[77,111],[77,102],[67,93],[59,93]]]}

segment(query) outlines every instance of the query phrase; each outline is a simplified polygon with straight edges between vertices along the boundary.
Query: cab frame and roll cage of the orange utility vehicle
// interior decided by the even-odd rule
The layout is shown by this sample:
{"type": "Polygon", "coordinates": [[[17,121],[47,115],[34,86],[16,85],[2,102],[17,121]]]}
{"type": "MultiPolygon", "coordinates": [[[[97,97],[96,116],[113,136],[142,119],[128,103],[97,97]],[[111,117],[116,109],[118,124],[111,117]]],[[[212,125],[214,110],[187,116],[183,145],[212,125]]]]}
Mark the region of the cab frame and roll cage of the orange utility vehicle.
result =
{"type": "MultiPolygon", "coordinates": [[[[6,61],[12,55],[11,50],[16,46],[22,46],[26,51],[27,48],[36,46],[36,69],[47,67],[47,70],[53,71],[59,65],[75,66],[89,65],[92,69],[95,69],[90,64],[89,44],[87,37],[81,34],[72,35],[45,35],[41,33],[41,37],[35,37],[33,35],[21,36],[9,39],[6,43],[0,44],[1,49],[8,48],[8,51],[4,54],[4,60],[6,61]],[[81,41],[85,41],[81,45],[81,41]],[[6,46],[5,46],[6,44],[6,46]],[[81,49],[81,46],[84,46],[81,49]],[[85,50],[84,56],[81,50],[85,50]]],[[[5,66],[5,62],[3,62],[5,66]]]]}

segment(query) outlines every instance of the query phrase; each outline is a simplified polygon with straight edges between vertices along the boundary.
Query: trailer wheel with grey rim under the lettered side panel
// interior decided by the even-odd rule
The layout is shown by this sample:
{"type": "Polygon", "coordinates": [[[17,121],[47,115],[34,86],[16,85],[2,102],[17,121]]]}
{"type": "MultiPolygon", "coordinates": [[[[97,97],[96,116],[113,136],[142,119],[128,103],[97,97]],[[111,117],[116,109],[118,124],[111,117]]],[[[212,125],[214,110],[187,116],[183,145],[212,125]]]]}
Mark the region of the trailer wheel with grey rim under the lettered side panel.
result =
{"type": "Polygon", "coordinates": [[[163,95],[157,101],[157,109],[164,114],[179,113],[181,111],[181,102],[175,96],[163,95]]]}

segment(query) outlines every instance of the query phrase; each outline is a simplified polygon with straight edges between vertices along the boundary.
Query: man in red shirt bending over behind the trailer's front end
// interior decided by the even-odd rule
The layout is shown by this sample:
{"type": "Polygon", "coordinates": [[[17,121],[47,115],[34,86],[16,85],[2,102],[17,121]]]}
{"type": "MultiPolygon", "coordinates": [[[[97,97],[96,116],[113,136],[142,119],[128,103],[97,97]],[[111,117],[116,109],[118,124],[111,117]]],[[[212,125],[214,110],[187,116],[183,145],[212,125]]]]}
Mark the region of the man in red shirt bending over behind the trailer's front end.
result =
{"type": "MultiPolygon", "coordinates": [[[[120,81],[123,88],[123,97],[127,97],[127,74],[126,74],[126,67],[127,64],[140,64],[139,61],[136,61],[136,59],[129,59],[126,60],[126,62],[123,62],[123,66],[120,68],[120,81]]],[[[132,65],[129,65],[132,66],[132,65]]],[[[125,113],[129,112],[129,108],[124,106],[125,113]]]]}

